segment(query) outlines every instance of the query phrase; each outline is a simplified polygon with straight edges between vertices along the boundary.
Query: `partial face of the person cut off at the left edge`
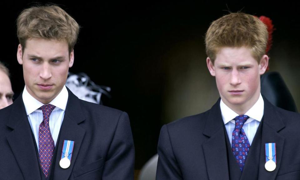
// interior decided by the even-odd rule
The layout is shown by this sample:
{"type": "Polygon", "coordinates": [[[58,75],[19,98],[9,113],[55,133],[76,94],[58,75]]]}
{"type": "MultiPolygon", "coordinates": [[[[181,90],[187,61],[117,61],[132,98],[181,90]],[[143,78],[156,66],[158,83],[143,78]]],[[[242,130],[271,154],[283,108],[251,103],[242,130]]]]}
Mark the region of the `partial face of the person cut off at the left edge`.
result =
{"type": "Polygon", "coordinates": [[[8,76],[0,70],[0,109],[12,104],[12,85],[8,76]]]}

